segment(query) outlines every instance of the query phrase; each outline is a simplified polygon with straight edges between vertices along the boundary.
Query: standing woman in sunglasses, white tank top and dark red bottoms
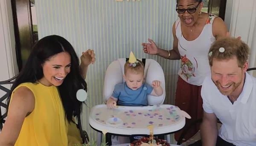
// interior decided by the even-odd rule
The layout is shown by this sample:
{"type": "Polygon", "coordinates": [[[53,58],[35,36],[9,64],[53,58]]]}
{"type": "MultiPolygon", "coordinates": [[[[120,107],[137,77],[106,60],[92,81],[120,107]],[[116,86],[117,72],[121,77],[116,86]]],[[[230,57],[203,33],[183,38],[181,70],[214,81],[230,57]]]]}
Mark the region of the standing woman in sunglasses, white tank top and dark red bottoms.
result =
{"type": "MultiPolygon", "coordinates": [[[[178,72],[175,105],[191,115],[186,125],[203,115],[201,85],[210,74],[208,51],[211,44],[227,34],[226,26],[220,17],[201,11],[202,0],[177,0],[176,11],[179,18],[172,27],[173,49],[160,49],[153,40],[142,43],[143,51],[170,60],[181,60],[178,72]]],[[[199,129],[194,127],[185,139],[199,129]]],[[[178,140],[180,133],[175,134],[178,140]]]]}

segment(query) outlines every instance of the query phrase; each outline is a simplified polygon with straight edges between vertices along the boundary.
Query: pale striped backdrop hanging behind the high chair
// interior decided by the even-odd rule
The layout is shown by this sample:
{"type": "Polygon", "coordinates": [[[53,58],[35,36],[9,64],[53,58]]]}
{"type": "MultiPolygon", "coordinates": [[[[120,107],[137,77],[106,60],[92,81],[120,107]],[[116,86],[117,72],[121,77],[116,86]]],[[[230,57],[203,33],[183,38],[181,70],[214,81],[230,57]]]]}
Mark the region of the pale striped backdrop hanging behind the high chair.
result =
{"type": "Polygon", "coordinates": [[[160,48],[172,48],[176,0],[35,0],[35,6],[39,39],[60,35],[79,56],[87,49],[95,50],[96,63],[88,70],[89,96],[82,115],[83,129],[94,140],[96,132],[88,123],[90,108],[104,102],[102,91],[108,65],[128,57],[130,51],[137,58],[151,58],[160,63],[166,79],[165,104],[174,104],[180,62],[145,54],[141,43],[151,38],[160,48]]]}

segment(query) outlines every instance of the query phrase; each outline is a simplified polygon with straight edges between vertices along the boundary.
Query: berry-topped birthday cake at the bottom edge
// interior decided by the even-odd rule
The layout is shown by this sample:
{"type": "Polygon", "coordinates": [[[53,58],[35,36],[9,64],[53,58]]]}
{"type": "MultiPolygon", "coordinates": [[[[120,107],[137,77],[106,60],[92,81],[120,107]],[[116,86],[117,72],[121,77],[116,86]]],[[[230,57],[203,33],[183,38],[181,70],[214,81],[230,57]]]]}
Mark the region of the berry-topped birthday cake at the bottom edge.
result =
{"type": "Polygon", "coordinates": [[[151,144],[151,140],[148,137],[142,137],[140,140],[134,140],[130,146],[170,146],[170,144],[166,140],[158,138],[152,140],[151,144]]]}

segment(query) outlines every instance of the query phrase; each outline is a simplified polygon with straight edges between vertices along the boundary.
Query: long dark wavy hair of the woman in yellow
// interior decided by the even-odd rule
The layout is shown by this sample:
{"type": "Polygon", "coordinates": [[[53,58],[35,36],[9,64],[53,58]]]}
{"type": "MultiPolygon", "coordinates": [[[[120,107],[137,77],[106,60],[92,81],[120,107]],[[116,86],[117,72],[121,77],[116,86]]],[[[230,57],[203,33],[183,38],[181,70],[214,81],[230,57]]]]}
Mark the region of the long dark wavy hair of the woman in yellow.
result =
{"type": "MultiPolygon", "coordinates": [[[[35,44],[25,66],[23,66],[15,83],[12,85],[7,100],[7,107],[9,107],[10,97],[13,90],[21,83],[38,83],[38,80],[44,77],[42,65],[49,60],[49,58],[61,52],[67,52],[71,57],[70,73],[67,74],[63,83],[58,86],[65,115],[69,122],[73,121],[73,116],[80,115],[82,102],[76,99],[76,92],[79,89],[86,90],[87,84],[81,75],[79,58],[77,57],[73,46],[66,39],[58,35],[44,37],[35,44]]],[[[6,112],[8,112],[8,109],[6,112]]]]}

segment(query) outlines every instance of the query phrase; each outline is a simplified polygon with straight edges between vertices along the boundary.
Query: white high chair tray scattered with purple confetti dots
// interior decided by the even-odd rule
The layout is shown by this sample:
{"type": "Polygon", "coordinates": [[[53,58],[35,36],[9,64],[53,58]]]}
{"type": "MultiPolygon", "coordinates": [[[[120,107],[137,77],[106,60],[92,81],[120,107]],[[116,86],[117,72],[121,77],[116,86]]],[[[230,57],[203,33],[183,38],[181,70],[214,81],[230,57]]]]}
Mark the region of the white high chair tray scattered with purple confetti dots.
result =
{"type": "Polygon", "coordinates": [[[89,123],[94,129],[119,135],[149,135],[147,126],[154,125],[154,135],[175,132],[185,125],[185,117],[177,106],[118,106],[108,109],[97,105],[91,109],[89,123]]]}

